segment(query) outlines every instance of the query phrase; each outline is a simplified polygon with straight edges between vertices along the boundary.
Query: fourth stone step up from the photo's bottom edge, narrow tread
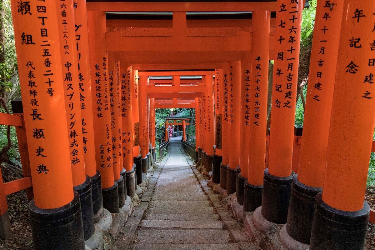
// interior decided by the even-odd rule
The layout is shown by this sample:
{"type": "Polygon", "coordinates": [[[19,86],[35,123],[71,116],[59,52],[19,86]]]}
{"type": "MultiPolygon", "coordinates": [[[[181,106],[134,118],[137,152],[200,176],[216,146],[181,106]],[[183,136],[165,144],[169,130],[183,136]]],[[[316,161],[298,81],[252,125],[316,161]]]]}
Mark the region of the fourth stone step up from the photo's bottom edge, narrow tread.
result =
{"type": "Polygon", "coordinates": [[[220,220],[218,214],[152,214],[147,213],[145,220],[220,220]]]}

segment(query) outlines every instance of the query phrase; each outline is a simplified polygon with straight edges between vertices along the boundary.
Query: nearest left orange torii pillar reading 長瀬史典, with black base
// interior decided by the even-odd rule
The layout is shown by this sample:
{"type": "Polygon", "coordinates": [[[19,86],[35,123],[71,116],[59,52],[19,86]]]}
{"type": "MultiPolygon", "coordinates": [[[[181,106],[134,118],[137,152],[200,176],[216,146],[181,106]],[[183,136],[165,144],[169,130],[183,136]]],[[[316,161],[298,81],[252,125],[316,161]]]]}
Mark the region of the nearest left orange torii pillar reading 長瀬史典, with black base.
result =
{"type": "Polygon", "coordinates": [[[33,181],[29,211],[34,249],[84,250],[80,195],[73,190],[56,3],[11,3],[33,181]]]}

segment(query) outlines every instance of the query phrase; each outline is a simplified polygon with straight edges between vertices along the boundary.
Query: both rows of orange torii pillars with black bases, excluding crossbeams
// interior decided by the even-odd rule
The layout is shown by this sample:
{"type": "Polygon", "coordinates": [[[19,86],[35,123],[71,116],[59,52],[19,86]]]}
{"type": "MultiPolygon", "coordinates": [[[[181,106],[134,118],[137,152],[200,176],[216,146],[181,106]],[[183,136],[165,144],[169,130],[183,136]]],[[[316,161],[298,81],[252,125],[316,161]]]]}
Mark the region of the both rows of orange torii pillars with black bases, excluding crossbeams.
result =
{"type": "MultiPolygon", "coordinates": [[[[215,84],[205,75],[204,85],[196,85],[202,92],[194,97],[197,160],[228,194],[237,191],[245,211],[261,206],[264,219],[287,223],[288,234],[311,250],[357,250],[364,248],[369,219],[375,3],[343,0],[332,8],[327,2],[317,6],[298,176],[291,174],[298,1],[277,1],[268,168],[266,10],[252,14],[254,37],[264,41],[253,39],[246,60],[215,70],[215,84]]],[[[148,77],[111,60],[105,13],[87,12],[83,0],[12,0],[12,16],[32,166],[34,249],[85,249],[103,207],[118,212],[147,174],[155,135],[148,77]]]]}

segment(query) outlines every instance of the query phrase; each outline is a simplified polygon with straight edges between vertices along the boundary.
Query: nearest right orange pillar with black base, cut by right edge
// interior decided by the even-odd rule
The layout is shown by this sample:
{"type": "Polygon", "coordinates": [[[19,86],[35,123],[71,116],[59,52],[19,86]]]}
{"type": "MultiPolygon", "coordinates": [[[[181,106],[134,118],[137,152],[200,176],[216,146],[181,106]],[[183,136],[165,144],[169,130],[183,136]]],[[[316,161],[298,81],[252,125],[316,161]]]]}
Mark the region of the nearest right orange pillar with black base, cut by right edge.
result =
{"type": "Polygon", "coordinates": [[[323,193],[316,196],[310,250],[365,249],[370,208],[364,199],[375,126],[374,9],[372,0],[344,0],[326,173],[323,193]]]}

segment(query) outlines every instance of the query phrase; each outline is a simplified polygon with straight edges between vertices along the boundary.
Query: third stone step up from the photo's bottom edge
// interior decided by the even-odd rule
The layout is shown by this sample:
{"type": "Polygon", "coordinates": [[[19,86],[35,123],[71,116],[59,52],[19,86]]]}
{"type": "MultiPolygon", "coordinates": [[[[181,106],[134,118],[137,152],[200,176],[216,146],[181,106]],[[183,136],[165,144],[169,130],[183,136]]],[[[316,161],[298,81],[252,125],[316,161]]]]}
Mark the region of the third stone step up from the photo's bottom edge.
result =
{"type": "Polygon", "coordinates": [[[217,220],[144,220],[141,228],[223,228],[217,220]]]}

